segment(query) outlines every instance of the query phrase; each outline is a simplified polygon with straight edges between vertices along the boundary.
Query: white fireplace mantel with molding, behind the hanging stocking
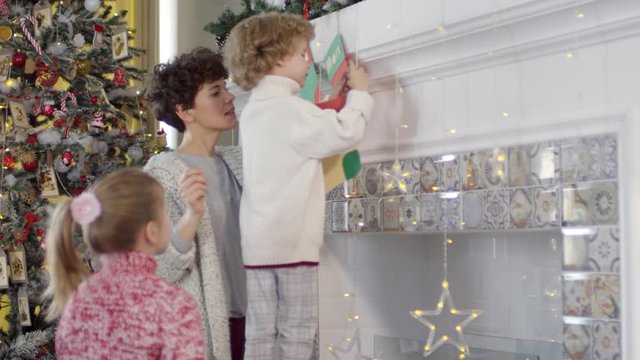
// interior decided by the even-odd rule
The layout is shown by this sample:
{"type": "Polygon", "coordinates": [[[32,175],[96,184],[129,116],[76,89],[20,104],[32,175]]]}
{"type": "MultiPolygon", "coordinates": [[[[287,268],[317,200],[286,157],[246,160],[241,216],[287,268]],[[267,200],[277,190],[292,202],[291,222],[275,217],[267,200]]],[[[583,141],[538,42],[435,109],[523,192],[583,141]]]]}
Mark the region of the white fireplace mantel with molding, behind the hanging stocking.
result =
{"type": "Polygon", "coordinates": [[[312,22],[316,62],[340,33],[370,74],[364,162],[618,135],[623,360],[640,358],[640,2],[365,0],[312,22]]]}

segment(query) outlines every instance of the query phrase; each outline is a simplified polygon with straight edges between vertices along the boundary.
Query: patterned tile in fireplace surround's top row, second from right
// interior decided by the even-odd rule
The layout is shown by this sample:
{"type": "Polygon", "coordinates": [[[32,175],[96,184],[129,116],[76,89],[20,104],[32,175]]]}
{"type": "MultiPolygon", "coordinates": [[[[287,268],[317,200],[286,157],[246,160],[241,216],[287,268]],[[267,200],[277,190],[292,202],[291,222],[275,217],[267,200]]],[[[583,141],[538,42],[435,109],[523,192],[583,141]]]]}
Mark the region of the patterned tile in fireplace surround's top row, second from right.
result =
{"type": "Polygon", "coordinates": [[[560,145],[560,173],[562,182],[585,181],[589,176],[591,156],[587,140],[569,139],[560,145]]]}

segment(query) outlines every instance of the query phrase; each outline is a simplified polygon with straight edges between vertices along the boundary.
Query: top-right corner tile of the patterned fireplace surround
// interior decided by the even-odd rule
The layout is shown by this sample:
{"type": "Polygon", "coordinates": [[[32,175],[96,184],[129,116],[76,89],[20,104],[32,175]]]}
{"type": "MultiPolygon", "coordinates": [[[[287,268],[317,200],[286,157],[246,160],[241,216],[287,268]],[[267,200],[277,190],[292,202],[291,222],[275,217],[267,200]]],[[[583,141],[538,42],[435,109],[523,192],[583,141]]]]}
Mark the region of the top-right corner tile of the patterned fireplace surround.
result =
{"type": "Polygon", "coordinates": [[[618,141],[614,135],[592,138],[589,144],[591,180],[615,179],[618,176],[618,141]]]}

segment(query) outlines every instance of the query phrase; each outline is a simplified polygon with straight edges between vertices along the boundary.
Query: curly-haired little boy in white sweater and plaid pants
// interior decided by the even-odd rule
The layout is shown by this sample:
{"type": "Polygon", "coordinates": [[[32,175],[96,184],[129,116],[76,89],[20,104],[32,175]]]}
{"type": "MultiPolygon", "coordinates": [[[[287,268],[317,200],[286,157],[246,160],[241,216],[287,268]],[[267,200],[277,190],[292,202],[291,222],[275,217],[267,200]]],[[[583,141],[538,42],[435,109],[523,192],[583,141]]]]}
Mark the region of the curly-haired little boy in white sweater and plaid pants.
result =
{"type": "Polygon", "coordinates": [[[318,330],[318,273],[325,212],[323,158],[354,147],[373,109],[368,75],[350,63],[340,112],[297,93],[313,27],[269,13],[238,23],[225,45],[233,81],[251,90],[240,118],[240,203],[247,269],[245,359],[309,359],[318,330]],[[276,341],[277,340],[277,341],[276,341]]]}

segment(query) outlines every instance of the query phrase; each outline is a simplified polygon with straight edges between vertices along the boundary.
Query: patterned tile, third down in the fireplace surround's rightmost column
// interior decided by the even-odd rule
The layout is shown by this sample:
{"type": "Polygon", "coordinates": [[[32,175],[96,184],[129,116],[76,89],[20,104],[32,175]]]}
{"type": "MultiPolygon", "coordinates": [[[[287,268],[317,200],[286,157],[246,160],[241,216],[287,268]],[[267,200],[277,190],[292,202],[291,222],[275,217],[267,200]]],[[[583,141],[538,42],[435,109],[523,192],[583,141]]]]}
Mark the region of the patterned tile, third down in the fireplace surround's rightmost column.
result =
{"type": "Polygon", "coordinates": [[[620,272],[620,229],[603,227],[589,239],[588,269],[599,272],[620,272]]]}

